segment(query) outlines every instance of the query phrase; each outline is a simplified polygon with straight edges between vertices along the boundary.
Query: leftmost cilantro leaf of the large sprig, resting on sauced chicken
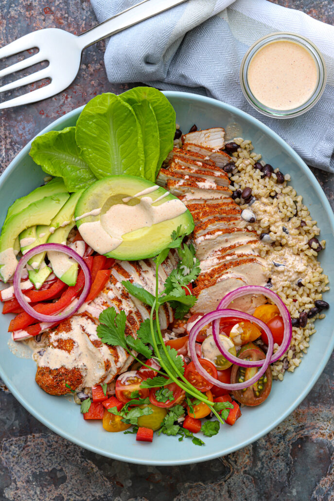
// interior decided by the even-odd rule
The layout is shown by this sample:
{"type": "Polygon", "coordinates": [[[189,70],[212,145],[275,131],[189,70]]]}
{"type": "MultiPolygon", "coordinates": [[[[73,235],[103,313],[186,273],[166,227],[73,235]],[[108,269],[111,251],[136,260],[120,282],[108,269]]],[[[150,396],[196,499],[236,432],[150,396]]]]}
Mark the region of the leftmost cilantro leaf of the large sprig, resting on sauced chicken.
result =
{"type": "Polygon", "coordinates": [[[107,308],[100,313],[99,322],[97,335],[103,343],[126,348],[124,311],[117,314],[115,308],[107,308]]]}

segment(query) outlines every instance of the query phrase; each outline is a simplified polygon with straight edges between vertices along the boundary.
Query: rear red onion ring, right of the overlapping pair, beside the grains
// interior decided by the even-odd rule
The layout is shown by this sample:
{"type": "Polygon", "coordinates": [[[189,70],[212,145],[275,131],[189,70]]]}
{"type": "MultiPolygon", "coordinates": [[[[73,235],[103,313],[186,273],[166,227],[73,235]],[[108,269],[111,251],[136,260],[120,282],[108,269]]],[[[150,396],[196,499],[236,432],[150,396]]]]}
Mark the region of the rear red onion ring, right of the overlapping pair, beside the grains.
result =
{"type": "MultiPolygon", "coordinates": [[[[275,294],[274,292],[270,291],[269,289],[266,289],[265,287],[261,287],[261,286],[247,285],[244,287],[239,287],[238,289],[235,289],[235,291],[232,291],[232,292],[226,294],[226,296],[220,301],[217,310],[223,310],[225,308],[228,308],[228,306],[232,303],[232,301],[234,301],[235,299],[240,298],[242,296],[246,296],[248,294],[261,294],[261,295],[265,296],[266,298],[269,298],[277,306],[279,313],[283,319],[283,325],[284,325],[283,340],[281,342],[279,349],[276,351],[276,353],[274,355],[272,355],[272,357],[270,359],[270,364],[272,364],[273,362],[276,362],[288,350],[290,343],[291,343],[291,339],[292,339],[291,317],[290,317],[288,309],[286,308],[286,306],[284,305],[284,303],[280,299],[280,297],[277,296],[277,294],[275,294]]],[[[235,316],[235,315],[236,315],[236,313],[234,311],[233,316],[235,316]]],[[[239,315],[239,312],[238,312],[238,315],[239,315]]],[[[251,317],[251,318],[252,318],[252,320],[251,320],[252,322],[255,322],[257,320],[254,317],[251,317]]],[[[255,322],[255,323],[257,323],[257,322],[255,322]]],[[[216,329],[216,331],[219,332],[219,325],[218,325],[217,321],[214,322],[212,331],[214,332],[215,329],[216,329]]],[[[265,330],[263,327],[261,327],[261,329],[265,330]]],[[[265,331],[265,333],[267,334],[266,331],[265,331]]],[[[233,363],[236,363],[236,362],[233,362],[233,363]]]]}

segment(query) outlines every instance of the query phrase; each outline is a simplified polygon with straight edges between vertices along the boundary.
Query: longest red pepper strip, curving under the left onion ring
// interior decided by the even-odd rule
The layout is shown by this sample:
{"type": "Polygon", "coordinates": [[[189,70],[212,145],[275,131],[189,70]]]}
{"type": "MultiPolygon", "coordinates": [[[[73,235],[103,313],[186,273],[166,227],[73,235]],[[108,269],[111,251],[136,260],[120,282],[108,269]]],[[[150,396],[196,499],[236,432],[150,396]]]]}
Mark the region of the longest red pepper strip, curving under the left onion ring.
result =
{"type": "MultiPolygon", "coordinates": [[[[92,269],[93,258],[85,258],[87,266],[92,269]]],[[[76,285],[69,287],[56,303],[41,303],[34,306],[34,310],[44,315],[55,315],[69,306],[72,300],[79,294],[85,285],[84,272],[80,270],[76,285]]],[[[14,320],[11,321],[8,332],[26,329],[29,325],[35,324],[36,319],[28,313],[19,313],[14,320]]]]}

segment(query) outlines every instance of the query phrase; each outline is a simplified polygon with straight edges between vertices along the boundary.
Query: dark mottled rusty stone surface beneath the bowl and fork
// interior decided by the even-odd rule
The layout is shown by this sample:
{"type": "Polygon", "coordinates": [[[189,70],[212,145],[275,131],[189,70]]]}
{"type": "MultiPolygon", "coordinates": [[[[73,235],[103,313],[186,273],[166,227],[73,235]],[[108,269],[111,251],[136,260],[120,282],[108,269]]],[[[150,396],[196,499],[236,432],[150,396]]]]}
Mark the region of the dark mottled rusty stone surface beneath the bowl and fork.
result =
{"type": "MultiPolygon", "coordinates": [[[[274,3],[334,24],[332,0],[274,3]]],[[[0,2],[0,46],[39,28],[81,33],[94,24],[88,0],[0,2]]],[[[99,92],[120,93],[127,88],[113,87],[107,81],[103,52],[103,42],[84,52],[79,76],[66,92],[29,107],[0,112],[1,170],[59,116],[99,92]]],[[[334,207],[332,175],[312,170],[334,207]]],[[[0,501],[333,500],[333,374],[332,355],[309,396],[252,445],[199,465],[168,468],[126,464],[81,449],[43,426],[0,385],[0,501]]]]}

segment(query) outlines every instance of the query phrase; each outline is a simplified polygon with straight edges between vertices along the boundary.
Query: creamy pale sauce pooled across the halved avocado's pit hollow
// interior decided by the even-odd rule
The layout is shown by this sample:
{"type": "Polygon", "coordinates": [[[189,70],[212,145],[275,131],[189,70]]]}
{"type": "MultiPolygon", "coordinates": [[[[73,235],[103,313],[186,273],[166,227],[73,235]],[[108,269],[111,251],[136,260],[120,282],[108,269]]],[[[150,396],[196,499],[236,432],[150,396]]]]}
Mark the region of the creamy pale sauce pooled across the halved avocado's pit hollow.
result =
{"type": "MultiPolygon", "coordinates": [[[[153,191],[153,188],[155,187],[147,189],[153,191]]],[[[128,200],[128,198],[123,200],[128,200]]],[[[82,223],[79,227],[81,236],[97,252],[107,254],[122,243],[122,236],[125,233],[173,219],[187,210],[178,198],[167,200],[157,206],[152,205],[156,201],[149,196],[144,196],[136,205],[122,203],[112,205],[105,214],[101,215],[100,220],[82,223]]]]}

